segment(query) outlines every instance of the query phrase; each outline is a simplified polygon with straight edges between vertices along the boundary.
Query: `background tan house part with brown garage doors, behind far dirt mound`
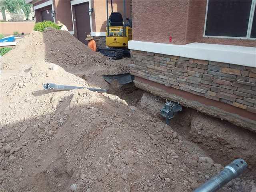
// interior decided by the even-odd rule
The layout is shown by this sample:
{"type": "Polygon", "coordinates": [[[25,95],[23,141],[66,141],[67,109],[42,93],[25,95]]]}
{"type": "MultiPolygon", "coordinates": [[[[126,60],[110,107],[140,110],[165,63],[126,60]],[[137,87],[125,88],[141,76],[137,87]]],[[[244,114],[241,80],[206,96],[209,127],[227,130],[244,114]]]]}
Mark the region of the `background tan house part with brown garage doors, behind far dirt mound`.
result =
{"type": "MultiPolygon", "coordinates": [[[[106,47],[106,0],[26,0],[26,3],[33,4],[36,22],[59,20],[84,44],[88,43],[86,35],[91,34],[97,47],[106,47]]],[[[126,17],[129,18],[130,4],[130,0],[126,1],[126,17]]],[[[108,7],[111,7],[110,0],[108,7]]],[[[123,13],[123,1],[113,0],[113,10],[123,13]]]]}

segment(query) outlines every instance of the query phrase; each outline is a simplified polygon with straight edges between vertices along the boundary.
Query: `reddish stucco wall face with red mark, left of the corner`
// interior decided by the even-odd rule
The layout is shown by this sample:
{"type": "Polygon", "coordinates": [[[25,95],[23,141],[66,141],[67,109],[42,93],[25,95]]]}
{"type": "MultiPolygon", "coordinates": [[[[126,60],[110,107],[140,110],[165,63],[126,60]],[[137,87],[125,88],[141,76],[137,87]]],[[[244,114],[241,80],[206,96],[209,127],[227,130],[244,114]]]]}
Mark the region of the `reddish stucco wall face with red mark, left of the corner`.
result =
{"type": "Polygon", "coordinates": [[[189,1],[133,1],[133,40],[185,44],[189,1]]]}

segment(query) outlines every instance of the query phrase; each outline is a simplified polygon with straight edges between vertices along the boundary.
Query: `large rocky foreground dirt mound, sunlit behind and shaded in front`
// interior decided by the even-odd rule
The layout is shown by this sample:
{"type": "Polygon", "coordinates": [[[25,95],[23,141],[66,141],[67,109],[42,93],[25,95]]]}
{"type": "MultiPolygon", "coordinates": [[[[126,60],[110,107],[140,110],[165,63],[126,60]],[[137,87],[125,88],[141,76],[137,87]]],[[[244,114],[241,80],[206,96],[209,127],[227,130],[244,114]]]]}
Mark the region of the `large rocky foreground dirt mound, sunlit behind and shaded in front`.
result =
{"type": "MultiPolygon", "coordinates": [[[[31,44],[24,48],[45,47],[31,44]]],[[[1,58],[2,191],[191,192],[222,169],[170,126],[118,96],[42,90],[44,82],[90,86],[94,77],[70,74],[36,51],[13,60],[20,47],[1,58]]],[[[236,179],[220,192],[254,186],[252,179],[236,179]]]]}

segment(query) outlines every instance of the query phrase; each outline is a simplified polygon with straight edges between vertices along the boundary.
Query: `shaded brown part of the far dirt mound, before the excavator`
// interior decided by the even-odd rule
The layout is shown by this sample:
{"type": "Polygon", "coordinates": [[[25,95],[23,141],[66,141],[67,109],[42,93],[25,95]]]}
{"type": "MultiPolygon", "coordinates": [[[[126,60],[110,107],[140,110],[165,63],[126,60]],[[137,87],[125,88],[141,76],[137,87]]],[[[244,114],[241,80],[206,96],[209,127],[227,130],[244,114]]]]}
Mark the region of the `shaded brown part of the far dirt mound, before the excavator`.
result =
{"type": "Polygon", "coordinates": [[[100,66],[101,74],[122,74],[128,73],[127,63],[122,60],[106,58],[100,52],[93,52],[74,36],[66,31],[48,29],[43,33],[46,56],[45,60],[58,64],[64,68],[100,66]]]}

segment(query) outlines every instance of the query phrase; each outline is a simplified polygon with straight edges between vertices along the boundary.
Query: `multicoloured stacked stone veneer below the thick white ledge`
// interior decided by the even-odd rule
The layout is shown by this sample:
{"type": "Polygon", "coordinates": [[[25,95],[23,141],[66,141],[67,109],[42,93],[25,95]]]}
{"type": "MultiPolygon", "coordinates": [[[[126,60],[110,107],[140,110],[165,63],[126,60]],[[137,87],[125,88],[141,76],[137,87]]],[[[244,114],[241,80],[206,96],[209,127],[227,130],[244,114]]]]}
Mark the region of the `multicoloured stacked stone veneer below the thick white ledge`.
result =
{"type": "Polygon", "coordinates": [[[135,76],[256,113],[256,68],[137,50],[131,60],[135,76]]]}

